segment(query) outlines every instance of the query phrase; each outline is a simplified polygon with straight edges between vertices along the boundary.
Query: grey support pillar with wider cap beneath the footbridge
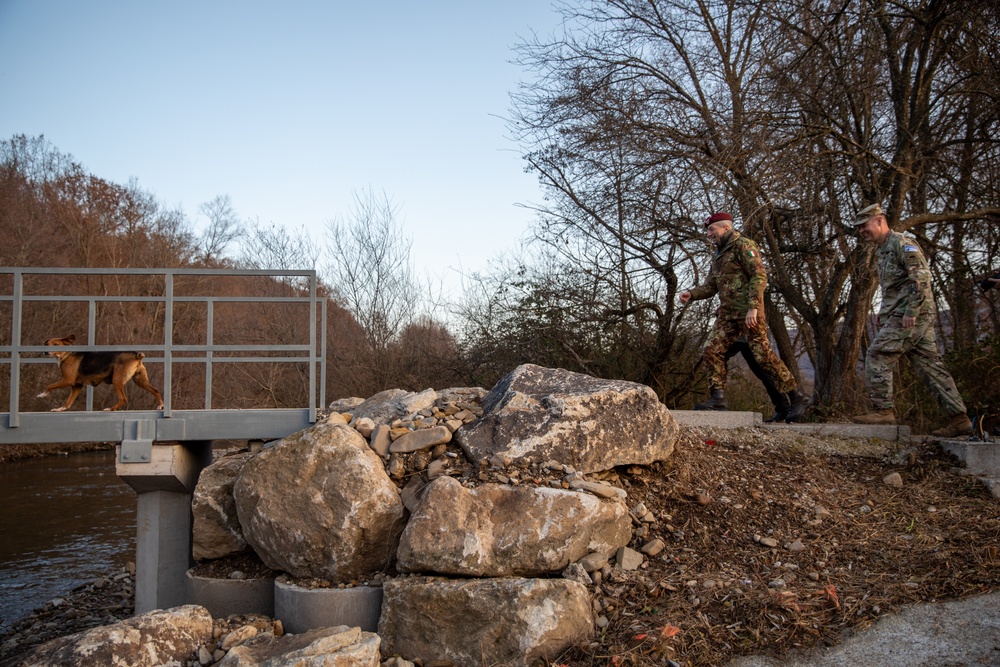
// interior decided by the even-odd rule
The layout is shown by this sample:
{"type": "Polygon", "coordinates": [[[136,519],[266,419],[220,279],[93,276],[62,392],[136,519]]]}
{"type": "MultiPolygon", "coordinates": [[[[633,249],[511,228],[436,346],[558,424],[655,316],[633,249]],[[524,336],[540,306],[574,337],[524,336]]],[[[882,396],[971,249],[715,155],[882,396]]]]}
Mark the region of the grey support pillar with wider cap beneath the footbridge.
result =
{"type": "Polygon", "coordinates": [[[115,471],[139,495],[136,515],[135,613],[187,602],[191,497],[212,461],[212,441],[153,445],[125,440],[115,471]]]}

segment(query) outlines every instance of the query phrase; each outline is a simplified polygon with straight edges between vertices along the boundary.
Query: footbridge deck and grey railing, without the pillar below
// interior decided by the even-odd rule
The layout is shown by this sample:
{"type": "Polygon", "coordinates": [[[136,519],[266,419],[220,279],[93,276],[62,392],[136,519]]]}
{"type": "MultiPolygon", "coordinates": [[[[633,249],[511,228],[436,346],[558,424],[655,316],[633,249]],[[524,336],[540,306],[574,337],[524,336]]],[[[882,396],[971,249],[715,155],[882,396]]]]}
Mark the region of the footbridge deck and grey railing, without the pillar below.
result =
{"type": "MultiPolygon", "coordinates": [[[[326,301],[315,271],[0,268],[0,282],[0,321],[9,323],[0,332],[8,408],[0,413],[0,444],[264,440],[315,422],[325,403],[326,301]],[[42,324],[50,321],[63,330],[42,324]],[[117,331],[129,332],[128,340],[93,344],[117,331]],[[61,351],[143,352],[163,409],[104,412],[94,408],[93,387],[66,412],[49,410],[68,389],[40,405],[35,395],[59,378],[44,340],[70,333],[90,344],[61,351]],[[247,375],[220,369],[236,366],[267,367],[272,376],[288,370],[301,386],[281,396],[284,405],[225,405],[220,382],[247,375]],[[287,405],[292,399],[299,405],[287,405]]],[[[130,404],[145,398],[129,393],[130,404]]]]}

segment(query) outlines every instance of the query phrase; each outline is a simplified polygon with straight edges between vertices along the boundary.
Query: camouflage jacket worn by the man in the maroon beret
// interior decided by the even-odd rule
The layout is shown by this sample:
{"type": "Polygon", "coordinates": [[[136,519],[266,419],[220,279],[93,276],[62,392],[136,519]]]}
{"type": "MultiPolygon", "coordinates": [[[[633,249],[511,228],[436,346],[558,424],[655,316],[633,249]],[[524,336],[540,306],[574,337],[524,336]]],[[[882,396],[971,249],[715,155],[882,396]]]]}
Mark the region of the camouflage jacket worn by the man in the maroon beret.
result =
{"type": "Polygon", "coordinates": [[[691,300],[719,295],[718,316],[741,320],[751,308],[764,313],[767,271],[760,247],[735,229],[727,234],[712,258],[712,269],[702,285],[691,290],[691,300]]]}

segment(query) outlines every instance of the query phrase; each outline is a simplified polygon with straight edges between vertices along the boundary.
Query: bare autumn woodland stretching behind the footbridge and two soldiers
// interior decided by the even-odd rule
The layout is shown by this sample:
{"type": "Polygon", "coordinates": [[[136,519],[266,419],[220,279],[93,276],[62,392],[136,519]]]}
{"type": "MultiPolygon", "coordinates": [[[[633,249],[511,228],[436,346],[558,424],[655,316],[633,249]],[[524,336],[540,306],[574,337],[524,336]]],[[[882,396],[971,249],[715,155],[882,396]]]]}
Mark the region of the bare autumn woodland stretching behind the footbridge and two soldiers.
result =
{"type": "MultiPolygon", "coordinates": [[[[812,414],[837,418],[866,407],[861,368],[877,307],[873,248],[847,223],[881,202],[931,261],[939,340],[959,389],[995,420],[1000,289],[977,282],[1000,271],[996,3],[558,7],[557,34],[517,46],[532,78],[508,114],[545,200],[532,206],[521,250],[464,276],[455,302],[416,279],[398,210],[372,190],[331,212],[320,241],[240,220],[226,196],[201,207],[210,224],[195,232],[182,211],[134,182],[87,173],[43,137],[0,144],[0,261],[316,268],[332,306],[333,398],[488,388],[532,362],[643,382],[668,406],[689,407],[706,390],[700,353],[715,304],[682,307],[677,295],[708,269],[703,220],[728,210],[763,250],[780,355],[813,395],[812,414]]],[[[264,311],[234,321],[248,332],[294,326],[264,311]]],[[[128,342],[130,329],[155,326],[144,317],[155,313],[104,313],[98,342],[128,342]]],[[[78,332],[78,319],[54,310],[22,336],[78,332]]],[[[897,376],[902,419],[940,417],[908,365],[897,376]]],[[[280,402],[300,381],[261,375],[229,398],[280,402]]],[[[769,410],[753,381],[735,379],[730,394],[734,407],[769,410]]]]}

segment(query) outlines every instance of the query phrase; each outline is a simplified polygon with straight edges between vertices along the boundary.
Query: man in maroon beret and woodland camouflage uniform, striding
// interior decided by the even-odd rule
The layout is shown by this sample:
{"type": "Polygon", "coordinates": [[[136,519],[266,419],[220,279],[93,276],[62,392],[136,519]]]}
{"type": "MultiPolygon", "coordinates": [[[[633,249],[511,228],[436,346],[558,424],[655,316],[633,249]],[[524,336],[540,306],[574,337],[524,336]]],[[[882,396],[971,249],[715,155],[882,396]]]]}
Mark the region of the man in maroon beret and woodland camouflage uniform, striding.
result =
{"type": "Polygon", "coordinates": [[[774,403],[774,416],[768,421],[799,421],[805,414],[806,397],[767,339],[764,320],[767,272],[760,248],[733,229],[733,218],[728,213],[710,216],[705,228],[718,248],[708,279],[680,295],[681,303],[719,295],[715,326],[704,352],[711,373],[711,398],[696,405],[695,410],[728,409],[726,361],[742,348],[774,403]]]}

